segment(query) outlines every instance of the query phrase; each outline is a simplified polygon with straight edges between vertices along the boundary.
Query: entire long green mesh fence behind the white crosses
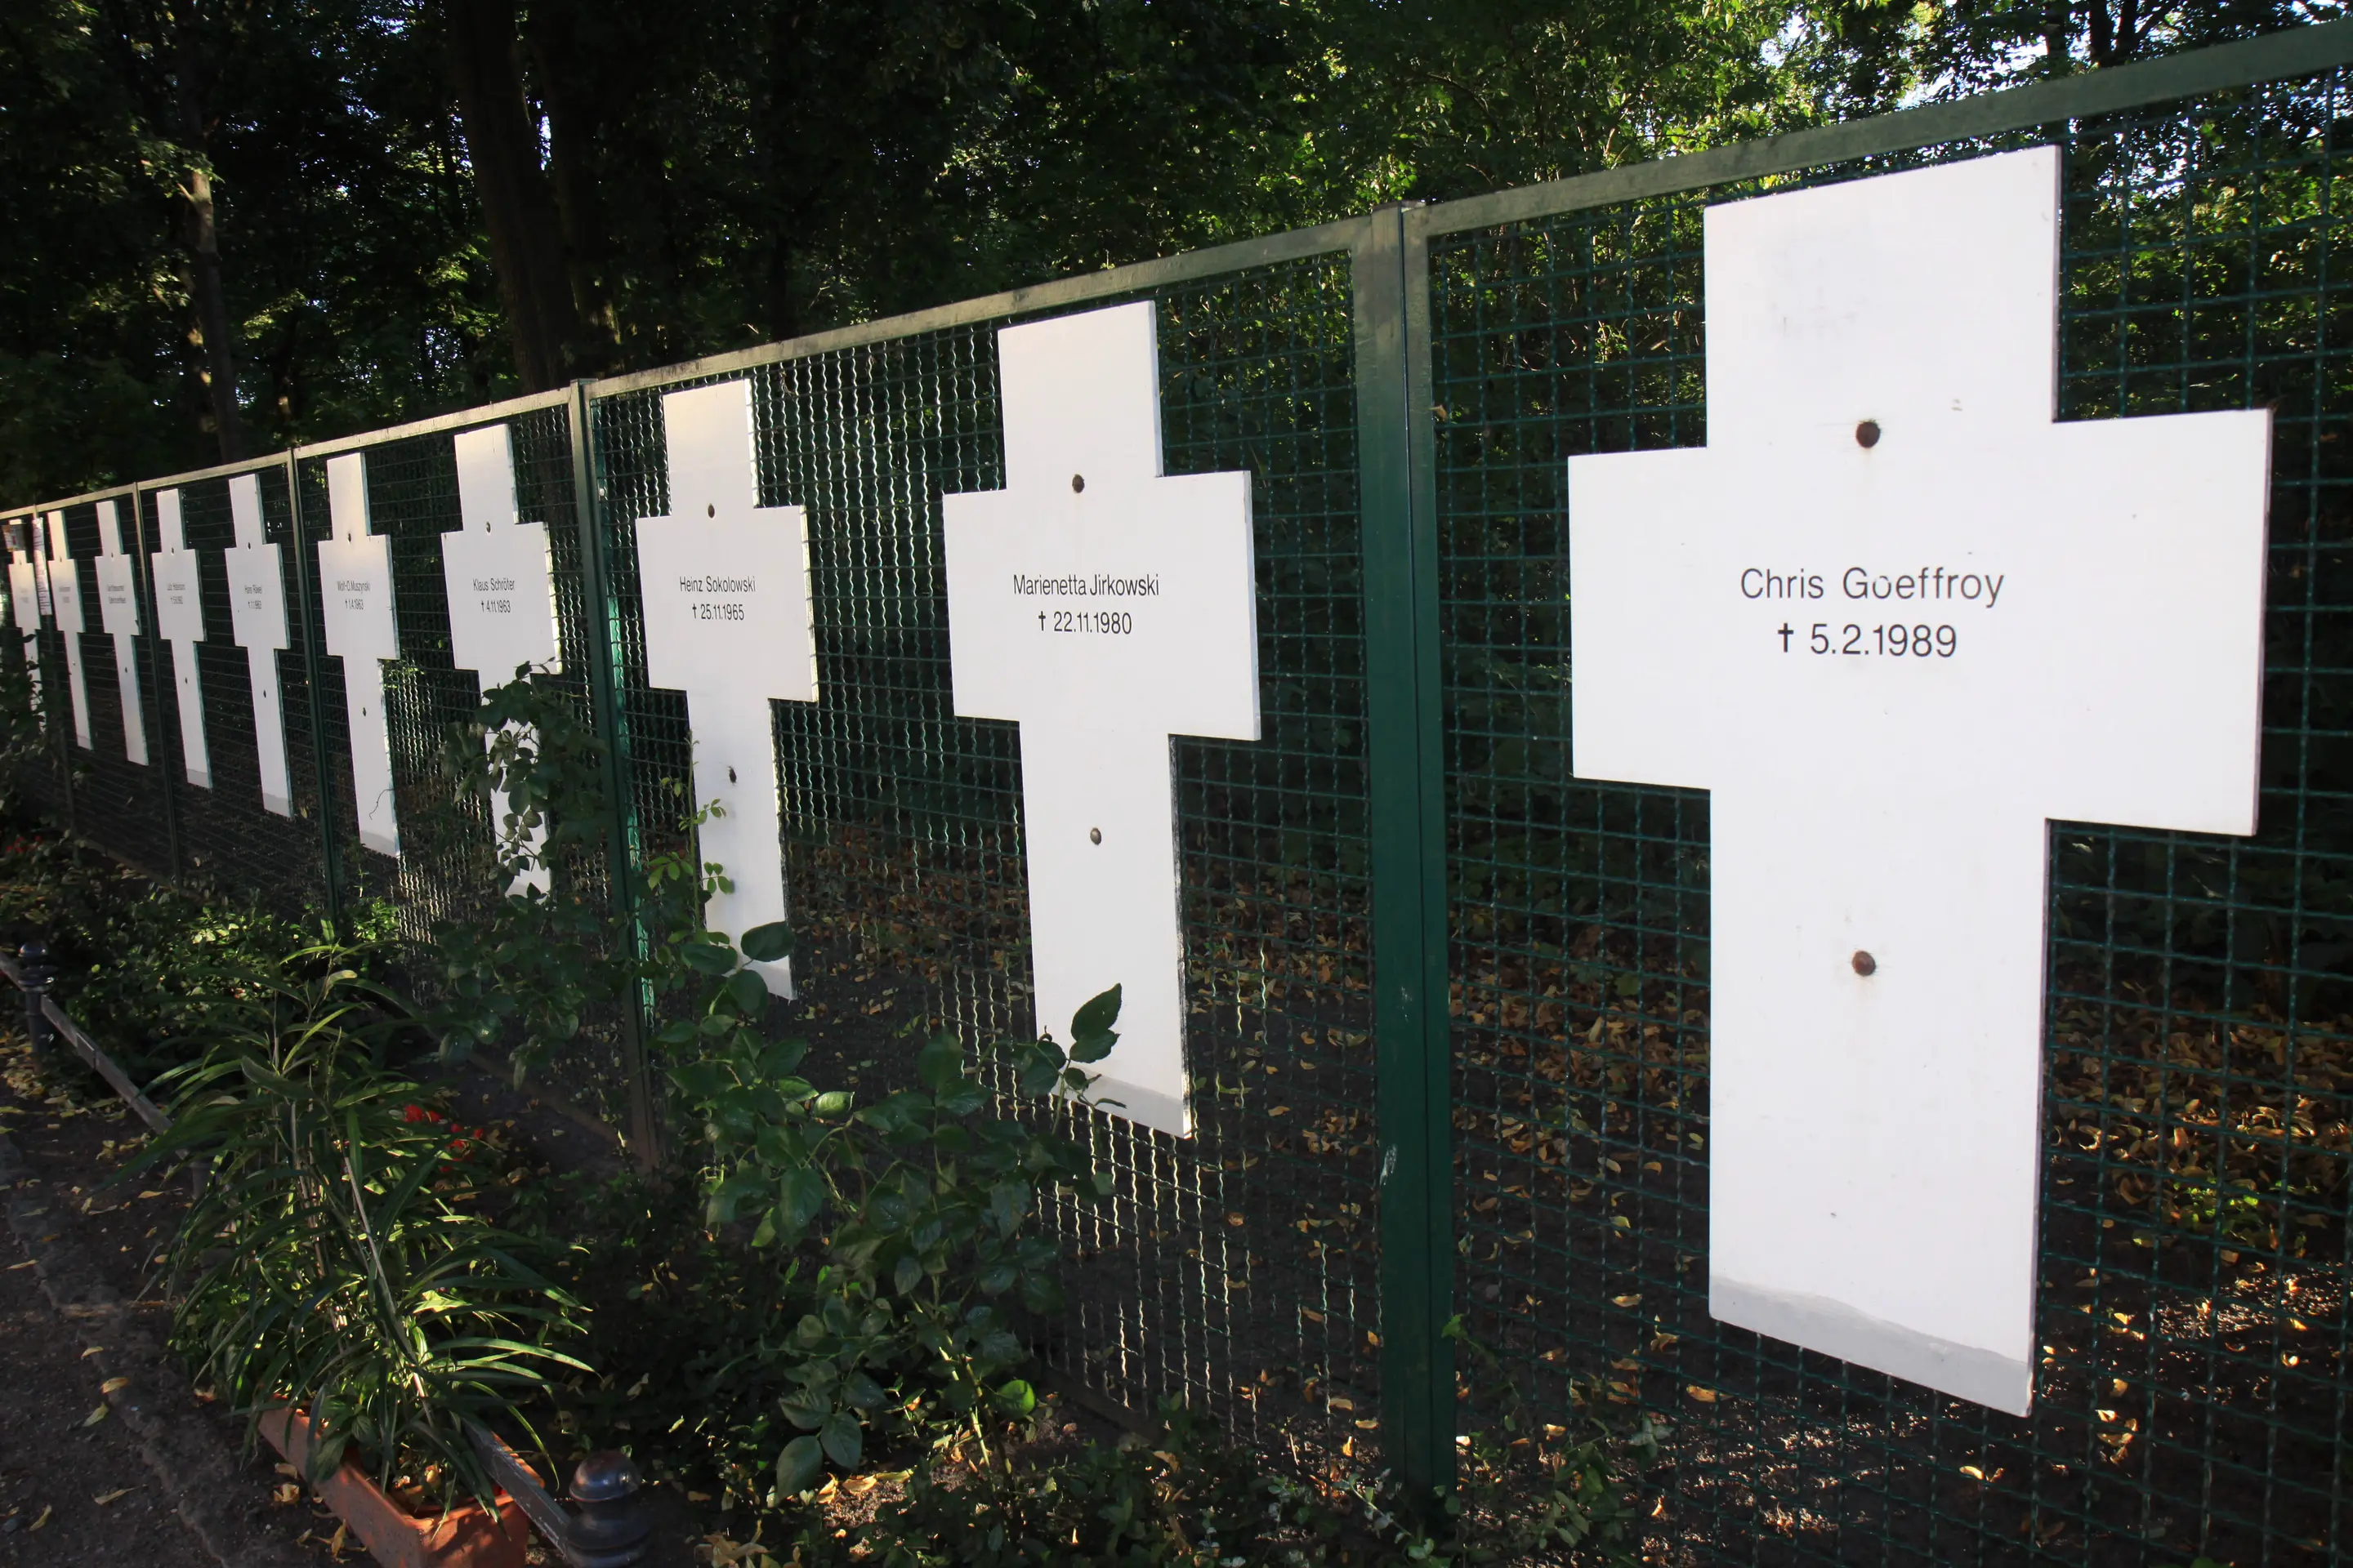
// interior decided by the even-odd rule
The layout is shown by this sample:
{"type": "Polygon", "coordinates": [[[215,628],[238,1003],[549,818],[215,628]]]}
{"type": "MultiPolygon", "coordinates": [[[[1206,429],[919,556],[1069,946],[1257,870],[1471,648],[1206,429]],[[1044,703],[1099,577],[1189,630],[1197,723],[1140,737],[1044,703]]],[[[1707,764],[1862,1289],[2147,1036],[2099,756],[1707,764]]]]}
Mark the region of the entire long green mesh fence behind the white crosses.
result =
{"type": "MultiPolygon", "coordinates": [[[[562,875],[624,957],[631,872],[689,846],[694,797],[635,555],[671,503],[661,400],[741,383],[758,503],[807,515],[819,693],[769,717],[809,1070],[887,1093],[925,1030],[1052,1027],[1019,731],[953,703],[941,496],[1005,484],[998,329],[1151,301],[1165,473],[1249,475],[1264,731],[1174,743],[1195,1131],[1080,1119],[1118,1190],[1056,1215],[1071,1307],[1033,1326],[1056,1378],[1134,1413],[1191,1399],[1407,1497],[1506,1408],[1647,1413],[1659,1460],[1626,1486],[1661,1561],[2339,1561],[2348,71],[2353,24],[2304,28],[0,512],[26,557],[54,536],[85,607],[78,635],[45,609],[0,639],[45,715],[16,788],[158,877],[421,947],[487,907],[492,825],[440,757],[496,677],[454,658],[442,552],[456,440],[504,428],[607,766],[612,830],[562,875]],[[1706,207],[2028,146],[2064,167],[2059,416],[2266,407],[2273,494],[2261,832],[2049,830],[2014,1418],[1708,1314],[1708,797],[1572,776],[1565,480],[1569,456],[1706,442],[1706,207]],[[344,458],[391,569],[381,715],[327,639],[344,458]],[[139,557],[122,637],[108,517],[139,557]],[[200,555],[186,651],[151,559],[174,531],[200,555]],[[271,592],[231,569],[240,541],[278,545],[271,592]],[[264,599],[282,646],[240,644],[264,599]],[[376,722],[398,858],[353,783],[376,722]]],[[[659,1023],[612,1009],[546,1067],[645,1154],[659,1023]]]]}

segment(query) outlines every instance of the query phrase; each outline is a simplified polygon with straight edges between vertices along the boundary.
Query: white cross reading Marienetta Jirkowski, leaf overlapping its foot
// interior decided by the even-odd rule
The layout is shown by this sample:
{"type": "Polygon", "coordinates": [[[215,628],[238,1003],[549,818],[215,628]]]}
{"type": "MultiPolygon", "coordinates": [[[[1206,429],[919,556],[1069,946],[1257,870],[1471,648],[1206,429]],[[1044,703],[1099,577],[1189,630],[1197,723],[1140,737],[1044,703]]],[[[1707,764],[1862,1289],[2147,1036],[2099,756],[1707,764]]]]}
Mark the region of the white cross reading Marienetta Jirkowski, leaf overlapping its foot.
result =
{"type": "Polygon", "coordinates": [[[955,712],[1021,724],[1038,1025],[1118,985],[1092,1093],[1186,1138],[1169,736],[1259,738],[1249,475],[1162,477],[1151,303],[1007,327],[998,376],[1005,489],[941,498],[955,712]]]}

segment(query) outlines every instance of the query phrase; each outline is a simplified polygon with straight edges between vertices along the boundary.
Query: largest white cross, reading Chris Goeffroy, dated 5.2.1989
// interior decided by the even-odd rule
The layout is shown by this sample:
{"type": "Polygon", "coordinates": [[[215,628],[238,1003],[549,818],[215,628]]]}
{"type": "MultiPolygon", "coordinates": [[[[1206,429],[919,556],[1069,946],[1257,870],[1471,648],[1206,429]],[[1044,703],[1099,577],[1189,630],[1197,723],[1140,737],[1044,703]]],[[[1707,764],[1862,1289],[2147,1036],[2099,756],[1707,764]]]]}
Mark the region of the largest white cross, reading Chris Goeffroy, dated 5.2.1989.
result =
{"type": "Polygon", "coordinates": [[[1711,790],[1711,1312],[2026,1413],[2047,823],[2254,830],[2264,411],[2054,423],[2054,148],[1711,207],[1569,461],[1579,778],[1711,790]]]}

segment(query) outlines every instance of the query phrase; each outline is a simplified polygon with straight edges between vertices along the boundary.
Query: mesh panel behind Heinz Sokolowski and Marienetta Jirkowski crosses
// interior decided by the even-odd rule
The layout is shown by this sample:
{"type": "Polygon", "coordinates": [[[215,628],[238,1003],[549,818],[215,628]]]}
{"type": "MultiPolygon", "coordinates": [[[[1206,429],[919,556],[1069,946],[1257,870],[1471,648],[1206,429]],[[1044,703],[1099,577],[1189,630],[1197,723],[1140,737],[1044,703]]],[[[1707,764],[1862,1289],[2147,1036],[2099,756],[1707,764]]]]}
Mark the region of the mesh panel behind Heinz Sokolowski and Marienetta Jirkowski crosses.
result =
{"type": "MultiPolygon", "coordinates": [[[[1167,470],[1257,480],[1264,741],[1176,743],[1198,1133],[1080,1128],[1120,1190],[1061,1215],[1073,1309],[1038,1333],[1066,1382],[1129,1408],[1188,1394],[1337,1446],[1377,1394],[1346,261],[1155,299],[1167,470]]],[[[953,712],[939,529],[941,494],[1002,484],[995,327],[751,371],[760,498],[807,508],[816,597],[819,701],[776,703],[795,1018],[816,1072],[864,1091],[906,1077],[927,1027],[1035,1027],[1016,729],[953,712]]],[[[675,844],[685,705],[642,686],[635,609],[633,520],[666,510],[659,393],[598,402],[595,435],[638,830],[675,844]]]]}

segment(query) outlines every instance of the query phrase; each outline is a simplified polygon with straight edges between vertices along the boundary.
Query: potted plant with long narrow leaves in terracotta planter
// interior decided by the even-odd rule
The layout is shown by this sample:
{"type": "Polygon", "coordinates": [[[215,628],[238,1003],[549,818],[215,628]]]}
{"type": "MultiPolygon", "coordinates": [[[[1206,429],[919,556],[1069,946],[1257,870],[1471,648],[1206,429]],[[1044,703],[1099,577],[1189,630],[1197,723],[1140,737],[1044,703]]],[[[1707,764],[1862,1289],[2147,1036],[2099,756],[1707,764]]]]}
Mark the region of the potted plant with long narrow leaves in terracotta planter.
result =
{"type": "Polygon", "coordinates": [[[165,1081],[148,1161],[212,1175],[169,1251],[172,1340],[384,1563],[520,1563],[468,1429],[520,1410],[579,1331],[534,1244],[485,1213],[482,1145],[381,1060],[344,950],[256,976],[165,1081]]]}

